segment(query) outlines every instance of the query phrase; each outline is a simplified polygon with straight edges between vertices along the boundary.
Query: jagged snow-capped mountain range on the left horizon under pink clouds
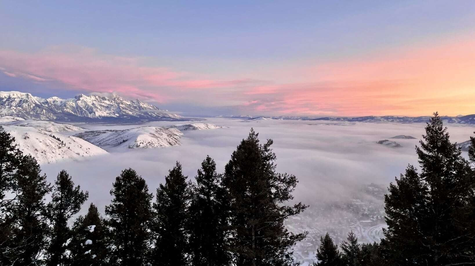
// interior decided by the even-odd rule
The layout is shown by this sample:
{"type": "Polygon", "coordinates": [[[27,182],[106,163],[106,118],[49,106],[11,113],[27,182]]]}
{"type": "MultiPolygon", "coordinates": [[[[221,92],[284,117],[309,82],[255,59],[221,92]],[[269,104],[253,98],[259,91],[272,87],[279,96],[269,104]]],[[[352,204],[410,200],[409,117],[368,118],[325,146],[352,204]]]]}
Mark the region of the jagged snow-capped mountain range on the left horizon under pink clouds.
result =
{"type": "Polygon", "coordinates": [[[177,120],[171,114],[139,99],[126,100],[117,95],[108,97],[80,94],[75,98],[39,98],[19,91],[0,91],[0,115],[25,119],[55,121],[140,121],[177,120]]]}

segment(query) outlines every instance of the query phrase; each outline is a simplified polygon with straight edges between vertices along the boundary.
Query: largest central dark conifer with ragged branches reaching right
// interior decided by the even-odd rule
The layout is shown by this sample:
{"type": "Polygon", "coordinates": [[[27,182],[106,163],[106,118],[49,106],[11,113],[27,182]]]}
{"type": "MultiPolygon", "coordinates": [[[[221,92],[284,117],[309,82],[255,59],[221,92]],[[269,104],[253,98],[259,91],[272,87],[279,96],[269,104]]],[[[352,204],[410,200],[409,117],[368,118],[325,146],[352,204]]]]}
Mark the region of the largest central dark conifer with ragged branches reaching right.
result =
{"type": "Polygon", "coordinates": [[[260,144],[251,129],[237,146],[225,168],[224,184],[230,209],[229,249],[237,266],[294,265],[291,248],[306,233],[293,234],[284,227],[304,204],[286,206],[297,185],[294,175],[276,173],[272,140],[260,144]]]}

